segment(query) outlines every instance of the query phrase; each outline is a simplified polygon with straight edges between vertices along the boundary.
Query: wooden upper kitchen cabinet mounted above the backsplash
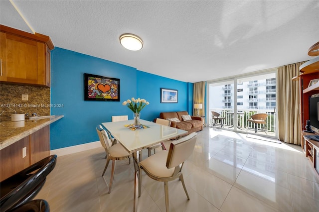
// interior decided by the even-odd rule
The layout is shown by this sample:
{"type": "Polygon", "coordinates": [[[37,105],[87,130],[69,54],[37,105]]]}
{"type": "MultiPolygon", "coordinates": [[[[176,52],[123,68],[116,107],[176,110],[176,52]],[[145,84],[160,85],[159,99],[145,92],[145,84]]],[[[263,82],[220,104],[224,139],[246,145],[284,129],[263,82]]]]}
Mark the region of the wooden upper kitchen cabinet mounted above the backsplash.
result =
{"type": "Polygon", "coordinates": [[[2,83],[50,87],[50,37],[0,25],[2,83]]]}

